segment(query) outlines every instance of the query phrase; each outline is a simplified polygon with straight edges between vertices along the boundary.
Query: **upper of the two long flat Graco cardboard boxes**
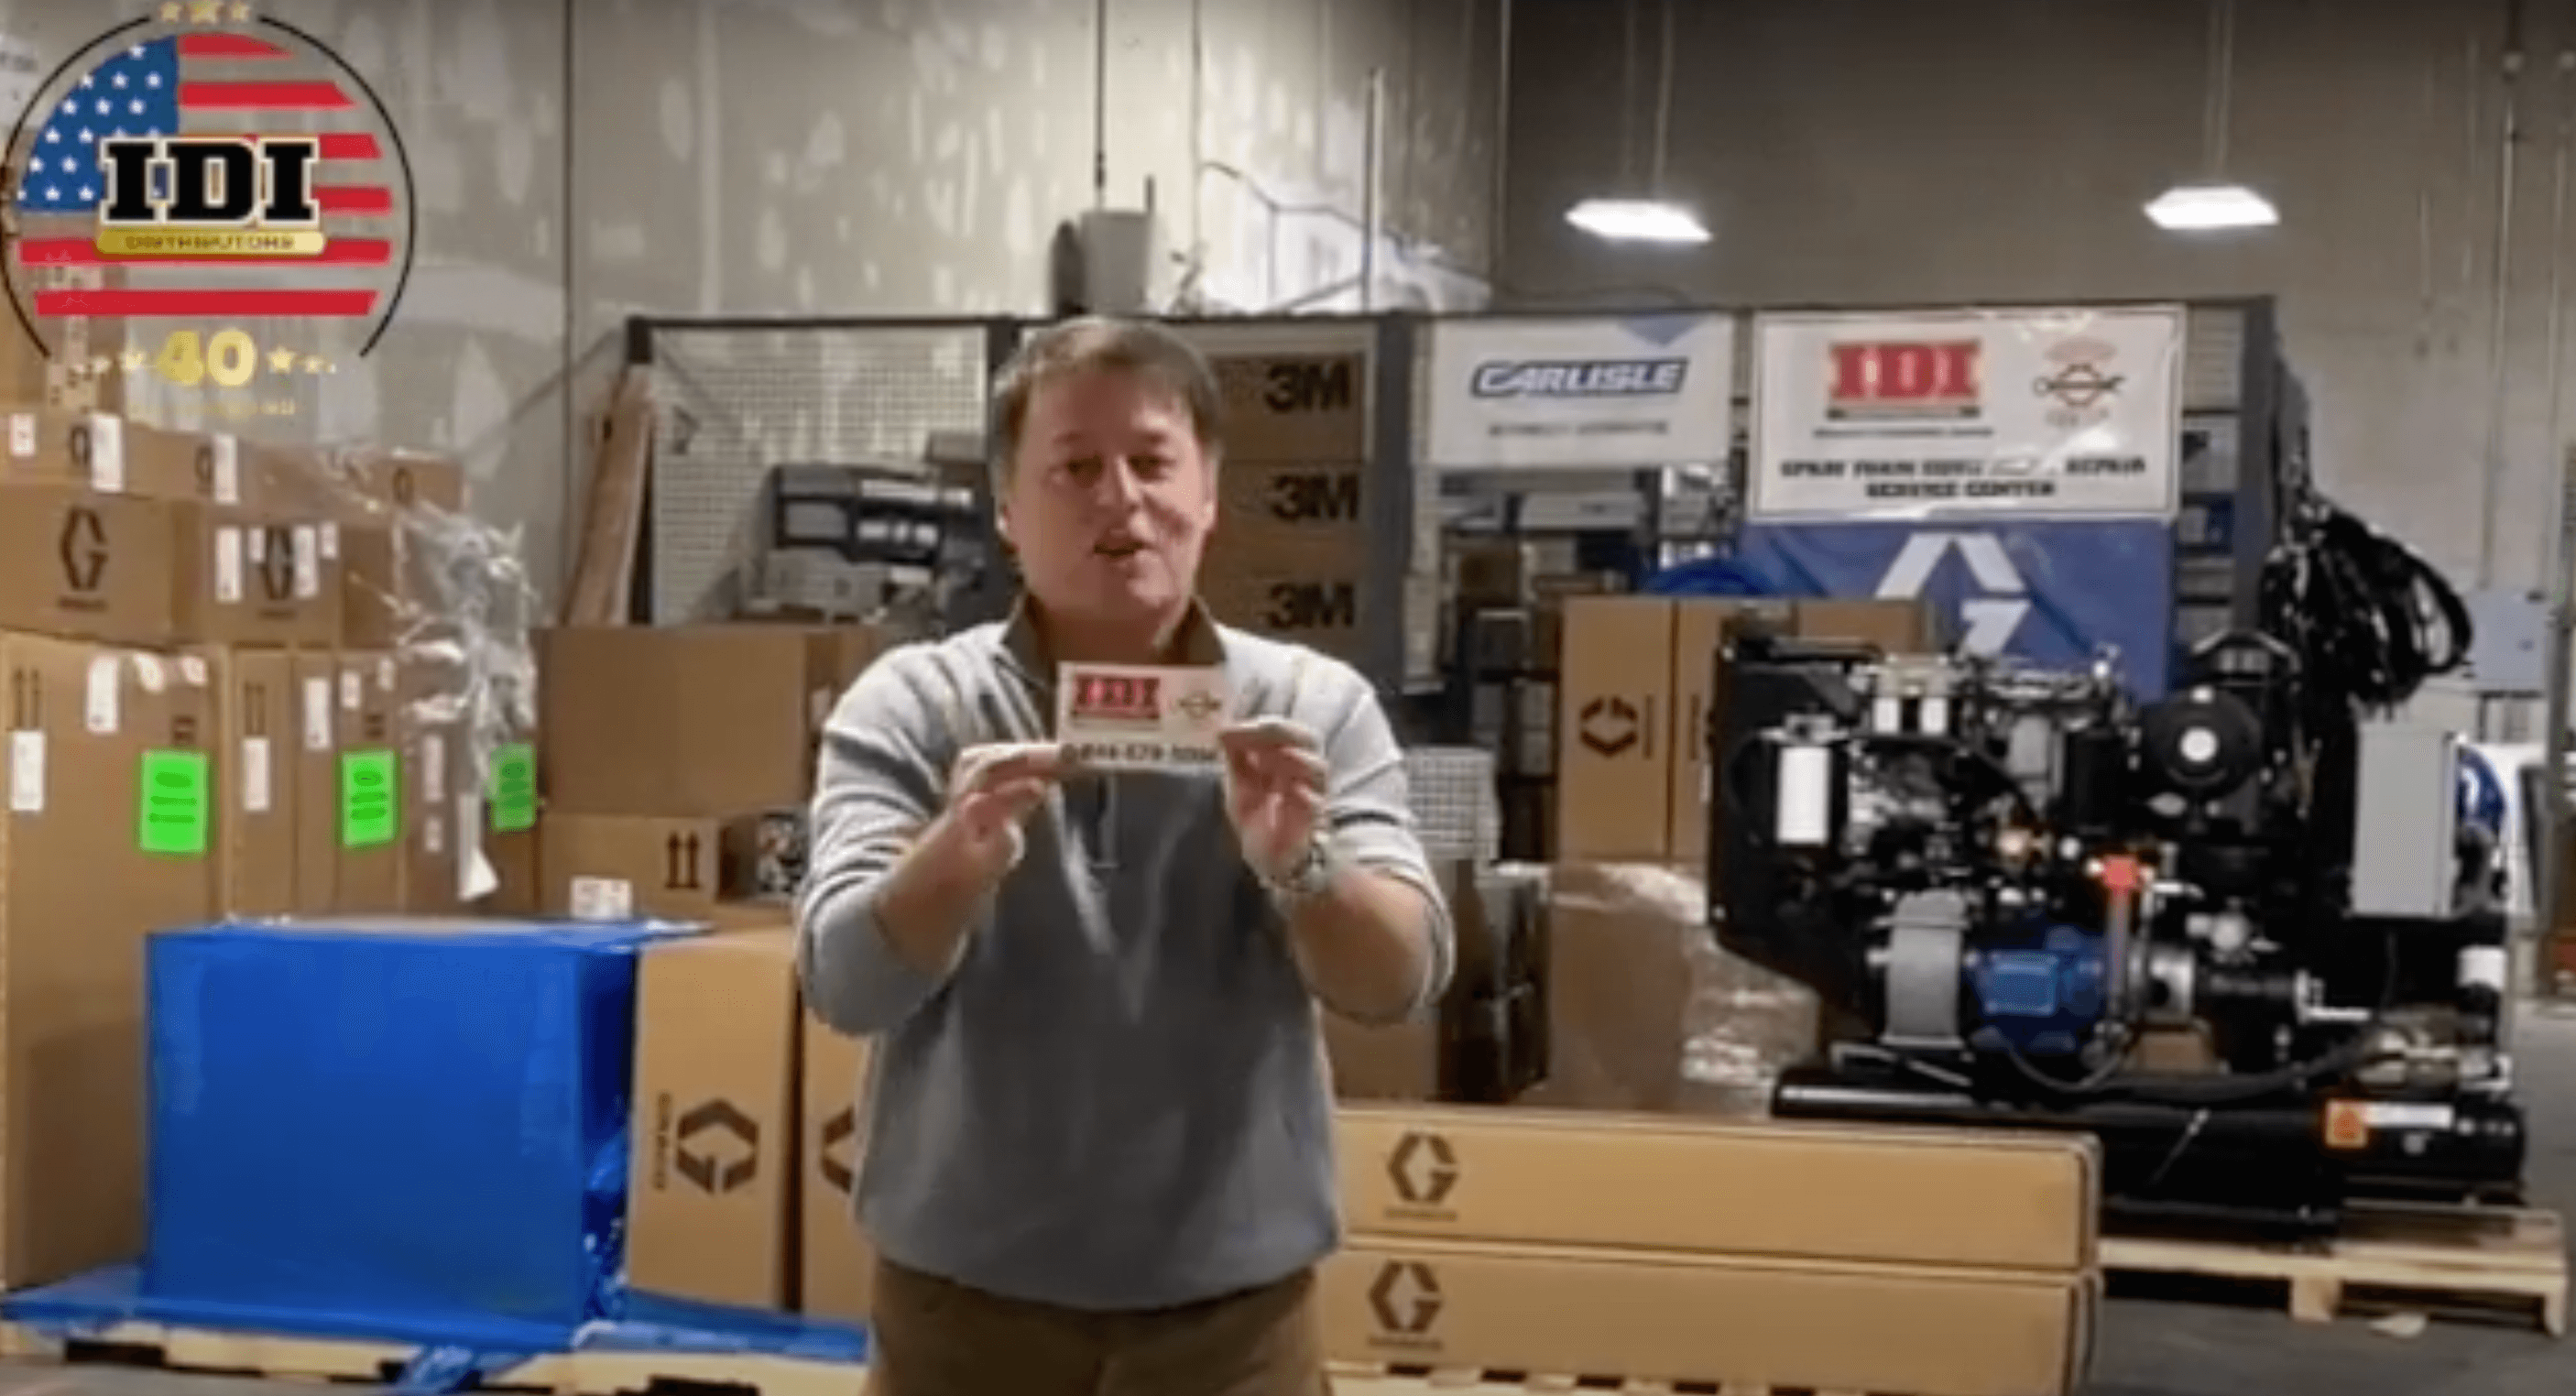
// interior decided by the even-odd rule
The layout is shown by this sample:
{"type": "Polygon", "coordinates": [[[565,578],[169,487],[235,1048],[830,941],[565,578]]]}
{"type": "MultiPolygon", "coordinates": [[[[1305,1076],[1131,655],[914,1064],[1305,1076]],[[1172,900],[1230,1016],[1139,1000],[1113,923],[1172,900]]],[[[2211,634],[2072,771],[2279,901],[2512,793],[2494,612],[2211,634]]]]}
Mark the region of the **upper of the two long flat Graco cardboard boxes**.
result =
{"type": "Polygon", "coordinates": [[[2089,1136],[1865,1131],[1525,1108],[1340,1113],[1352,1231],[2092,1270],[2089,1136]]]}

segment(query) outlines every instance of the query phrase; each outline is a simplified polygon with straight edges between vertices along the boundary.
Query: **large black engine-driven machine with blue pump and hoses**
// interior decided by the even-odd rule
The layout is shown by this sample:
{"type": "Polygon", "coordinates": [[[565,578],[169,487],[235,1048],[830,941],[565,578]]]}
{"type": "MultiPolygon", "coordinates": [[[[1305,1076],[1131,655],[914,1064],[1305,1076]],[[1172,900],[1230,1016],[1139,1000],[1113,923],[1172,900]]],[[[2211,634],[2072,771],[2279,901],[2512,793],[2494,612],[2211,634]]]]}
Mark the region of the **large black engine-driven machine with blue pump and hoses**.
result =
{"type": "Polygon", "coordinates": [[[2092,1131],[2125,1218],[2512,1198],[2501,829],[2455,737],[2375,721],[2465,644],[2421,559],[2316,500],[2259,626],[2148,703],[2110,659],[1739,628],[1710,922],[1850,1020],[1775,1113],[2092,1131]]]}

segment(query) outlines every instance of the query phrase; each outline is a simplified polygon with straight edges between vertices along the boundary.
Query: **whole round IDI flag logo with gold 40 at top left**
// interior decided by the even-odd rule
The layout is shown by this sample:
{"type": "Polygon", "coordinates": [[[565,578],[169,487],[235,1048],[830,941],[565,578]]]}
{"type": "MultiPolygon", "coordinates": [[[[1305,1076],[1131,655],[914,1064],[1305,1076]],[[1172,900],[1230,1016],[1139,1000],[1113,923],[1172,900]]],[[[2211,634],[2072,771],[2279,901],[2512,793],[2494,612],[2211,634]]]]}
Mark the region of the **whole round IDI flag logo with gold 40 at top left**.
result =
{"type": "Polygon", "coordinates": [[[337,368],[325,350],[374,350],[410,281],[384,103],[245,0],[167,0],[72,52],[18,118],[8,180],[10,309],[67,384],[152,373],[216,417],[294,415],[337,368]]]}

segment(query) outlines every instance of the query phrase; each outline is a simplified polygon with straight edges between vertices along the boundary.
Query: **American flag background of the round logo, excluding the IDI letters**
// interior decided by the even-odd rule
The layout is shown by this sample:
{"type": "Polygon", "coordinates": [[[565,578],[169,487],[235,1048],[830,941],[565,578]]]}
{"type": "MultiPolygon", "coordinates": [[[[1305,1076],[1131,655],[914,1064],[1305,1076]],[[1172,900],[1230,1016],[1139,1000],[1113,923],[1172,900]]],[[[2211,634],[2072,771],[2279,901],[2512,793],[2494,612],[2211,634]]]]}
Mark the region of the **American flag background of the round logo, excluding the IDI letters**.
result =
{"type": "MultiPolygon", "coordinates": [[[[36,317],[392,314],[410,260],[407,167],[381,108],[330,49],[247,5],[162,5],[100,39],[21,121],[10,273],[36,317]],[[167,31],[170,21],[196,26],[167,31]],[[237,28],[209,28],[232,21],[237,28]],[[100,142],[131,137],[304,137],[322,245],[291,252],[124,255],[100,250],[108,175],[100,142]],[[404,185],[397,191],[397,185],[404,185]],[[106,288],[62,288],[64,270],[124,268],[106,288]]],[[[160,175],[155,188],[165,188],[160,175]]],[[[381,325],[379,325],[381,330],[381,325]]],[[[371,343],[371,340],[368,340],[371,343]]]]}

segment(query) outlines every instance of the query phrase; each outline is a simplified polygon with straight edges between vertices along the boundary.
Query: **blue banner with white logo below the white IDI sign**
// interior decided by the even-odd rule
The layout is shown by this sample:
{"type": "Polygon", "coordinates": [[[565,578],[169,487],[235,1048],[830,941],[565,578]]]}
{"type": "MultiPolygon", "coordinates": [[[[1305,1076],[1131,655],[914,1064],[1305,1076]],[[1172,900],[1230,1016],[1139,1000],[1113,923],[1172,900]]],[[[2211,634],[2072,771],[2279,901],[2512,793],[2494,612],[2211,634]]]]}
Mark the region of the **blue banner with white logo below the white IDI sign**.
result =
{"type": "Polygon", "coordinates": [[[2174,657],[2174,533],[2105,523],[1749,523],[1734,564],[1772,595],[1927,598],[1973,654],[2081,667],[2105,646],[2141,701],[2174,657]]]}

